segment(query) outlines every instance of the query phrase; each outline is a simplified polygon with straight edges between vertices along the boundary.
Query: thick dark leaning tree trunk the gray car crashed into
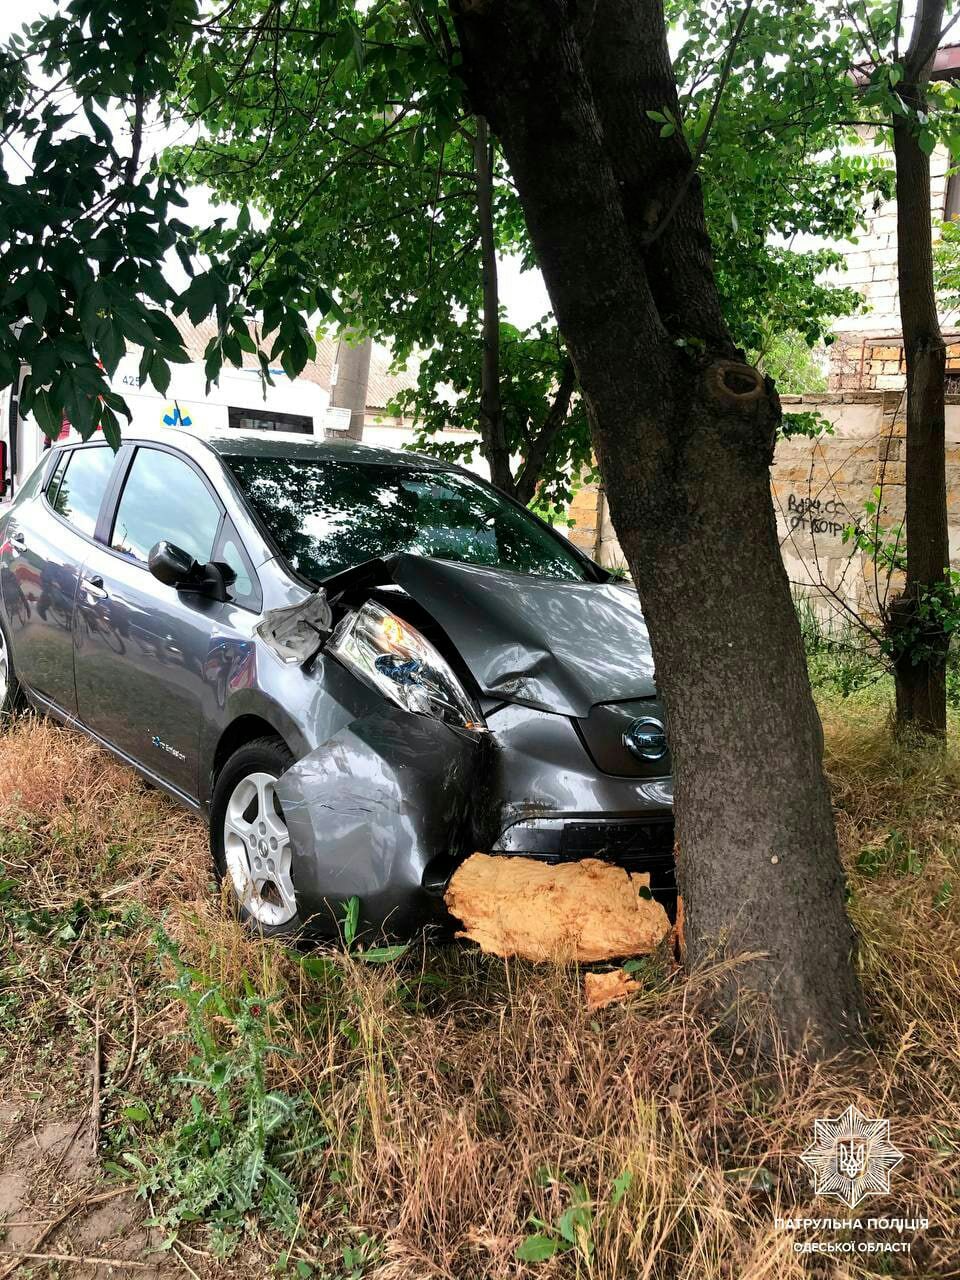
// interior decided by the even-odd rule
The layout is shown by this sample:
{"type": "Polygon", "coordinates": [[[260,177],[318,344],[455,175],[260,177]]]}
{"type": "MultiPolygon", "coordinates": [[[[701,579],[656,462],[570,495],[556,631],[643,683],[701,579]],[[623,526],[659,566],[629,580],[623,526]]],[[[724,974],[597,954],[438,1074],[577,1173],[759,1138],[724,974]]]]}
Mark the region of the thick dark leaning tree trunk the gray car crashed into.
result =
{"type": "Polygon", "coordinates": [[[724,330],[686,143],[646,115],[677,110],[660,0],[460,5],[650,628],[687,955],[741,956],[721,1007],[756,992],[833,1051],[863,1004],[769,490],[780,406],[724,330]]]}

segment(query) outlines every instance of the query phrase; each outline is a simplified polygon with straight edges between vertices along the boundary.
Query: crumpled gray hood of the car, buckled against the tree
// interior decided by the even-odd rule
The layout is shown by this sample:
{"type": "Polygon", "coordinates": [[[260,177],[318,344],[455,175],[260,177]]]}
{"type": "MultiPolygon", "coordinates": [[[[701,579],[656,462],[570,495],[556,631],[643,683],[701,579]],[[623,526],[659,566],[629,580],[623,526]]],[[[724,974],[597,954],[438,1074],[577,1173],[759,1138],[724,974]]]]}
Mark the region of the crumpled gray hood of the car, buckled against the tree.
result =
{"type": "Polygon", "coordinates": [[[480,689],[563,716],[655,694],[632,588],[567,582],[406,553],[390,577],[438,622],[480,689]]]}

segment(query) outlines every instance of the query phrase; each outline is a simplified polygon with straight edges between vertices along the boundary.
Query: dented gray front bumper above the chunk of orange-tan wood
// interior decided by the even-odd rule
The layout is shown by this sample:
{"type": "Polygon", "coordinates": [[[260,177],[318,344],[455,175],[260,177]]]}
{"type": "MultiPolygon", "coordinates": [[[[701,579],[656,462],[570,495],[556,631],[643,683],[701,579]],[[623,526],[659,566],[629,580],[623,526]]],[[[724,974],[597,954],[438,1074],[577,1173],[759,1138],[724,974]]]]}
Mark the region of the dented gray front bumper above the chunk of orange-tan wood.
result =
{"type": "Polygon", "coordinates": [[[380,704],[280,777],[302,918],[332,932],[358,897],[365,929],[445,927],[449,877],[476,851],[650,870],[672,908],[669,778],[602,773],[567,716],[502,704],[488,726],[380,704]]]}

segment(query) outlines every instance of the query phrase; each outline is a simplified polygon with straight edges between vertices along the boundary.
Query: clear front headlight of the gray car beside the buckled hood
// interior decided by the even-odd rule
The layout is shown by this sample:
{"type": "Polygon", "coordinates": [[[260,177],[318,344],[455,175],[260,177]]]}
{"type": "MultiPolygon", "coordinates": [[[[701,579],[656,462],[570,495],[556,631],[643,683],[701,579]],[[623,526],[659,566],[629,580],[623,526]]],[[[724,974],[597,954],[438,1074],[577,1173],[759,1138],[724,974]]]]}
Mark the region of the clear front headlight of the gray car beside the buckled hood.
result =
{"type": "Polygon", "coordinates": [[[486,728],[449,663],[415,627],[374,600],[343,620],[326,652],[404,710],[456,728],[486,728]]]}

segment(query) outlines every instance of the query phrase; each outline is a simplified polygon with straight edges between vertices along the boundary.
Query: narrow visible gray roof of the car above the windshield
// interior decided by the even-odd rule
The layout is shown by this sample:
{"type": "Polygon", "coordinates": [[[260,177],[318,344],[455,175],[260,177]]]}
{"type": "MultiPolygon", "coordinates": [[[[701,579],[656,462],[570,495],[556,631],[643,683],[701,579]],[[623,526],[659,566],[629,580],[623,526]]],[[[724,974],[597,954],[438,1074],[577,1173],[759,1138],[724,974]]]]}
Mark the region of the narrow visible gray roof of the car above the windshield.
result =
{"type": "Polygon", "coordinates": [[[381,463],[385,466],[430,467],[434,471],[457,470],[448,462],[411,453],[408,449],[384,449],[357,440],[325,440],[294,431],[256,431],[210,429],[197,426],[129,426],[123,430],[124,443],[170,444],[193,457],[210,449],[220,457],[302,458],[324,462],[381,463]]]}

